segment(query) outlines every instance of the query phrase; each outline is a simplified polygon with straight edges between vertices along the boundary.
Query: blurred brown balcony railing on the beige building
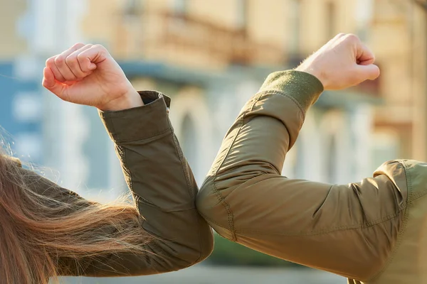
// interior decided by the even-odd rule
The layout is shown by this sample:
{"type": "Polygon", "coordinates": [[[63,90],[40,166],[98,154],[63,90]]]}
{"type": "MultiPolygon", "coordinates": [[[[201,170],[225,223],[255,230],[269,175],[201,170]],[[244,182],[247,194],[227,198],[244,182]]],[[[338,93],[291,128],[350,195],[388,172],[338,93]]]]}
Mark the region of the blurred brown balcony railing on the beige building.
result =
{"type": "MultiPolygon", "coordinates": [[[[163,53],[164,58],[181,61],[186,60],[186,56],[194,55],[199,60],[208,58],[223,65],[285,63],[283,48],[253,40],[244,29],[220,26],[201,18],[168,12],[147,12],[138,18],[132,23],[140,26],[138,35],[127,34],[124,31],[126,28],[118,29],[115,40],[117,49],[127,50],[128,54],[133,55],[143,54],[144,58],[157,59],[163,53]],[[132,43],[133,40],[140,40],[140,44],[132,43]]],[[[135,31],[135,27],[128,28],[135,31]]]]}

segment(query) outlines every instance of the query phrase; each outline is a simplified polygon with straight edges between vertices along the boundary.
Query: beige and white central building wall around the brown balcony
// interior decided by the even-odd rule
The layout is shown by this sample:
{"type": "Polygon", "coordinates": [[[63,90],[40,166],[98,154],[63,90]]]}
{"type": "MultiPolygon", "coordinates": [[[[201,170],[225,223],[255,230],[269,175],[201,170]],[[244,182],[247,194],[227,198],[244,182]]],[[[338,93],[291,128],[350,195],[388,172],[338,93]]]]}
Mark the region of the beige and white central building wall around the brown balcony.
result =
{"type": "MultiPolygon", "coordinates": [[[[99,0],[89,2],[89,11],[100,5],[99,0]]],[[[166,42],[153,45],[155,51],[144,48],[144,43],[149,45],[163,31],[162,21],[155,18],[159,12],[184,13],[190,18],[209,22],[228,31],[245,28],[248,38],[253,42],[274,45],[282,50],[285,58],[294,53],[307,55],[339,31],[363,30],[369,20],[362,17],[351,21],[352,18],[357,18],[353,10],[359,3],[353,0],[346,1],[345,4],[343,1],[332,0],[144,0],[133,2],[134,7],[138,8],[133,10],[135,13],[124,13],[129,2],[131,1],[102,1],[105,6],[102,13],[89,12],[85,19],[86,23],[99,21],[102,24],[85,25],[88,26],[83,28],[85,37],[97,38],[106,43],[112,54],[120,60],[162,62],[178,66],[182,70],[214,72],[212,74],[216,75],[228,74],[228,65],[232,62],[221,61],[221,58],[212,56],[208,49],[186,50],[177,45],[169,45],[168,48],[166,42]],[[295,7],[298,8],[296,12],[295,7]],[[120,31],[120,36],[117,31],[120,31]]],[[[186,24],[188,23],[174,22],[176,28],[183,28],[186,36],[195,42],[205,40],[212,45],[216,42],[227,45],[226,41],[197,33],[186,24]]],[[[285,60],[278,62],[275,67],[272,66],[272,70],[286,69],[286,63],[285,60]]],[[[263,65],[263,62],[259,65],[263,65]]],[[[251,74],[250,67],[246,74],[251,74]]],[[[233,79],[224,85],[215,80],[216,75],[211,78],[210,83],[196,85],[171,82],[175,78],[159,80],[149,74],[132,77],[132,82],[138,89],[158,89],[172,97],[170,117],[199,183],[209,170],[223,135],[239,109],[263,82],[262,76],[246,76],[244,72],[236,75],[234,72],[233,79]]],[[[357,105],[352,109],[337,106],[313,112],[315,115],[310,116],[311,122],[306,122],[300,141],[291,151],[291,158],[285,163],[283,173],[295,178],[325,182],[348,182],[369,175],[367,168],[371,167],[366,166],[369,163],[369,145],[361,141],[361,137],[369,138],[371,131],[372,114],[369,106],[357,105]],[[368,111],[363,112],[363,109],[368,111]],[[356,119],[356,122],[352,119],[356,119]],[[337,121],[340,121],[339,124],[337,121]],[[337,125],[331,129],[332,124],[337,125]],[[319,143],[313,146],[312,141],[319,143]],[[357,150],[352,151],[354,149],[357,150]],[[329,168],[325,164],[330,165],[329,168]]]]}

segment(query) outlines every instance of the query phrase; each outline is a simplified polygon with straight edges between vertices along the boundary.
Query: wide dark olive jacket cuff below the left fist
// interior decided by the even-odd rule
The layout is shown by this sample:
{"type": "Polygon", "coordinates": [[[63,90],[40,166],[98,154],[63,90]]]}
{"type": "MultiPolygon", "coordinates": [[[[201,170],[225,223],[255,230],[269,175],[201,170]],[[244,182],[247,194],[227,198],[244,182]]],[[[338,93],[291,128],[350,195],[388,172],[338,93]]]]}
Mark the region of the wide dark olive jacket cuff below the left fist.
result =
{"type": "Polygon", "coordinates": [[[154,91],[139,92],[144,106],[122,111],[98,111],[115,143],[139,141],[171,131],[169,97],[154,91]]]}

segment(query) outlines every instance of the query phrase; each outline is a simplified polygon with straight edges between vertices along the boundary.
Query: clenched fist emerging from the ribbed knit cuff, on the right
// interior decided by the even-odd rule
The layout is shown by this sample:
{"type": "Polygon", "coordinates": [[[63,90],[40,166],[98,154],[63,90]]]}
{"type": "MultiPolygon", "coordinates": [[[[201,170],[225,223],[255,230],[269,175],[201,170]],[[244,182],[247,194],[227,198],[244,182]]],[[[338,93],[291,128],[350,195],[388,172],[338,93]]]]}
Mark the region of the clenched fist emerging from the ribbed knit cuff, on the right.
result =
{"type": "Polygon", "coordinates": [[[356,35],[340,33],[295,70],[315,75],[325,89],[345,89],[379,77],[374,53],[356,35]]]}

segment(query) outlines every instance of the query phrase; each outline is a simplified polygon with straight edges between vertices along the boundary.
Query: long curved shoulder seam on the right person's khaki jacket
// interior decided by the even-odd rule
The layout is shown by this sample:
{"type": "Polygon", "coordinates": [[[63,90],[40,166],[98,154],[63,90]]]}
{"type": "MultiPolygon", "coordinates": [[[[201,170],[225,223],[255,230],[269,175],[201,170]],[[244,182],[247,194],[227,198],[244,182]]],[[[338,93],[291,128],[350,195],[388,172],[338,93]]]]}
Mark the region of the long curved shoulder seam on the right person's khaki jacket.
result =
{"type": "MultiPolygon", "coordinates": [[[[409,197],[412,195],[411,173],[409,172],[408,165],[406,164],[406,162],[404,160],[399,160],[399,163],[403,166],[403,168],[405,170],[406,187],[407,187],[407,191],[408,191],[407,199],[409,200],[409,197]]],[[[411,203],[411,202],[406,201],[406,207],[404,207],[403,209],[408,208],[408,203],[411,203]]],[[[401,209],[401,211],[403,209],[401,209]]],[[[408,217],[409,217],[408,210],[406,210],[406,212],[404,214],[404,219],[402,222],[401,230],[398,233],[396,244],[394,245],[394,248],[392,249],[389,258],[387,259],[386,263],[384,263],[383,267],[376,274],[374,274],[374,276],[369,278],[368,282],[371,282],[371,281],[379,278],[379,276],[381,276],[384,273],[384,271],[386,271],[386,269],[389,267],[390,263],[394,260],[394,257],[396,256],[397,249],[399,249],[401,242],[402,242],[402,239],[404,238],[404,233],[406,232],[406,225],[408,223],[408,217]]]]}

